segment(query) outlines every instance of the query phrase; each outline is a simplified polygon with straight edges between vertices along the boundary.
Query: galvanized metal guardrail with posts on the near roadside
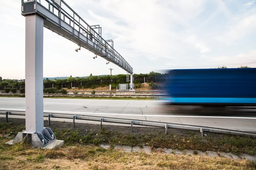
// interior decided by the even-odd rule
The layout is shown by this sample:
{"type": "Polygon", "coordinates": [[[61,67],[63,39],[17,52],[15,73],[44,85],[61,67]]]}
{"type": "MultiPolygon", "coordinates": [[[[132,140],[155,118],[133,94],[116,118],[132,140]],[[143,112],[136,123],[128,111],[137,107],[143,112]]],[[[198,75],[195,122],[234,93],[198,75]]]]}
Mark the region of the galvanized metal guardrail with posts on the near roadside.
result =
{"type": "MultiPolygon", "coordinates": [[[[8,115],[19,115],[25,116],[25,111],[5,111],[0,110],[0,114],[6,115],[6,122],[8,122],[8,115]]],[[[144,120],[134,120],[134,119],[119,119],[119,118],[109,118],[109,117],[99,117],[99,116],[85,116],[85,115],[74,115],[74,114],[63,114],[63,113],[49,113],[45,112],[44,117],[48,117],[48,125],[50,126],[51,118],[61,118],[61,119],[73,119],[73,127],[75,127],[75,120],[87,120],[87,121],[96,121],[100,122],[101,128],[103,122],[108,123],[118,123],[118,124],[128,124],[131,125],[131,131],[133,125],[139,126],[150,126],[150,127],[160,127],[165,128],[165,133],[167,134],[168,128],[177,128],[177,129],[186,129],[186,130],[198,130],[201,132],[201,135],[204,136],[204,132],[213,132],[213,133],[225,133],[231,135],[239,136],[251,136],[256,137],[256,133],[253,132],[244,132],[239,130],[229,130],[221,129],[215,127],[205,127],[205,126],[195,126],[195,125],[183,125],[167,122],[153,122],[153,121],[144,121],[144,120]]]]}

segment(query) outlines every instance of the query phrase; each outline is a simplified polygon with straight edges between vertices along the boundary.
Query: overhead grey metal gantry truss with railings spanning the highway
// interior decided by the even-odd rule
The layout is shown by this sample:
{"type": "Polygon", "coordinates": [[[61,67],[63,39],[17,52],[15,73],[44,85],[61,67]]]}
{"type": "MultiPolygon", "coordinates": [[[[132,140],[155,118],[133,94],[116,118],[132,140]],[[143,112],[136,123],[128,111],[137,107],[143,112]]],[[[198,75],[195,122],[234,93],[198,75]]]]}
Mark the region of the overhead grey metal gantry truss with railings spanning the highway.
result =
{"type": "Polygon", "coordinates": [[[64,0],[21,0],[21,12],[24,16],[40,15],[45,28],[133,74],[133,68],[113,48],[113,40],[102,38],[102,27],[88,25],[64,0]]]}

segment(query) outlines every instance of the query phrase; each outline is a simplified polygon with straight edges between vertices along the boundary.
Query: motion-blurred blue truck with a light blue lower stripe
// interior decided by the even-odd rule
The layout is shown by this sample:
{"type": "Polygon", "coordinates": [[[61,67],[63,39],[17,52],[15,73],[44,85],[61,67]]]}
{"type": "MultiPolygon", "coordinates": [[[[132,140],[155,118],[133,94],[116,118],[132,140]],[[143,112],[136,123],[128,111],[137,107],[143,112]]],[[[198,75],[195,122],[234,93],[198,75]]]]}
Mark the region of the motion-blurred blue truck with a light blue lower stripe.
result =
{"type": "Polygon", "coordinates": [[[256,105],[256,68],[170,70],[166,88],[174,105],[256,105]]]}

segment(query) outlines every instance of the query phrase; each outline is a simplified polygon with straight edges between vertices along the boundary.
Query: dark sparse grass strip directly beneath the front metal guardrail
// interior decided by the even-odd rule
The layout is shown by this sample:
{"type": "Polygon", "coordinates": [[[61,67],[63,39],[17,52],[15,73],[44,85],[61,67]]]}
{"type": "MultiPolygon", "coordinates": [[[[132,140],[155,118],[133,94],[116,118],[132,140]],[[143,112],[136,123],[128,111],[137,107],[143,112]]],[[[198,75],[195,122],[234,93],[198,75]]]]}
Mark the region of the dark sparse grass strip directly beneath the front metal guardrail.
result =
{"type": "MultiPolygon", "coordinates": [[[[4,118],[0,118],[0,139],[6,139],[10,135],[14,137],[24,129],[24,119],[9,119],[10,123],[4,121],[4,118]]],[[[48,127],[48,121],[44,124],[48,127]]],[[[168,135],[165,135],[165,129],[160,128],[133,127],[131,132],[131,127],[110,125],[103,125],[101,130],[100,125],[82,123],[76,123],[73,128],[73,123],[53,121],[50,127],[67,146],[105,143],[256,155],[256,138],[246,136],[206,133],[207,136],[202,137],[198,131],[171,128],[168,129],[168,135]]]]}

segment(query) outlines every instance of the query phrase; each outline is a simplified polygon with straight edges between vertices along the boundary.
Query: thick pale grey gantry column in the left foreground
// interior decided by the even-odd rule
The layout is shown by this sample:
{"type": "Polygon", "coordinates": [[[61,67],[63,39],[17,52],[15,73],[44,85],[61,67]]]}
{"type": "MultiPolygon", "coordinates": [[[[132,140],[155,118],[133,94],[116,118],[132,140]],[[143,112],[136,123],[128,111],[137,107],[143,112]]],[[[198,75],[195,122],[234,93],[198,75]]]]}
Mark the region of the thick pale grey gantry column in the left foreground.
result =
{"type": "Polygon", "coordinates": [[[26,16],[25,77],[26,77],[26,131],[44,129],[43,101],[43,37],[44,19],[38,15],[26,16]]]}

